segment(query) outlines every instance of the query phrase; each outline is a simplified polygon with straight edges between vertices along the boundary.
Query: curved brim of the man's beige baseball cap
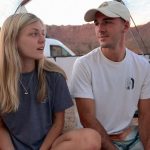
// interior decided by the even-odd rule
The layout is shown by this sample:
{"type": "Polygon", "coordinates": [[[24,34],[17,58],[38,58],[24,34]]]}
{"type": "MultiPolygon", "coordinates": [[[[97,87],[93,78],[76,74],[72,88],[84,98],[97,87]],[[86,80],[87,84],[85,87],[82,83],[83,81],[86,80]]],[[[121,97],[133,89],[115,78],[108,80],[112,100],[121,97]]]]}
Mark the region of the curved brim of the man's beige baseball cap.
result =
{"type": "Polygon", "coordinates": [[[120,17],[119,15],[114,14],[113,12],[107,10],[107,9],[103,9],[103,8],[99,8],[99,9],[90,9],[85,13],[84,16],[84,20],[86,22],[91,22],[95,20],[95,14],[97,12],[100,12],[102,14],[104,14],[105,16],[111,17],[111,18],[116,18],[116,17],[120,17]]]}

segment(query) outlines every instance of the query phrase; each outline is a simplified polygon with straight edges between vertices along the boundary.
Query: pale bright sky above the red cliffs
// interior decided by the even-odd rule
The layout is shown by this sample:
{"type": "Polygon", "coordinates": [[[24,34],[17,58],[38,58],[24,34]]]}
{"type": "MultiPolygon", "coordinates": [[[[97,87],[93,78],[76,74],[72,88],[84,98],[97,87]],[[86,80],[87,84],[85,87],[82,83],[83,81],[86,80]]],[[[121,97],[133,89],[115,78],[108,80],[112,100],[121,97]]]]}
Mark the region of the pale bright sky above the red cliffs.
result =
{"type": "MultiPolygon", "coordinates": [[[[21,0],[0,0],[0,25],[8,14],[14,13],[21,0]]],[[[98,7],[105,0],[31,0],[26,9],[36,14],[48,25],[85,24],[84,14],[98,7]]],[[[123,0],[131,12],[136,25],[150,21],[149,0],[123,0]]]]}

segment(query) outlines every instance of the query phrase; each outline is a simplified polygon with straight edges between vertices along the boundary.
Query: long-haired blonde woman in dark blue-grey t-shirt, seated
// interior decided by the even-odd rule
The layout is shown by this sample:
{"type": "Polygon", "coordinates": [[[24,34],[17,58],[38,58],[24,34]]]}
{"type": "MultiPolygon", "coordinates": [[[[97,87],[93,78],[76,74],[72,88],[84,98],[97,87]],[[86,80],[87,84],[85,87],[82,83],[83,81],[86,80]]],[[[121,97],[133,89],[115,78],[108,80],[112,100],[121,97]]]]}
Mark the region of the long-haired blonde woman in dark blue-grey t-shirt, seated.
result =
{"type": "Polygon", "coordinates": [[[0,149],[99,150],[92,129],[62,134],[73,105],[62,69],[43,55],[45,27],[30,13],[6,19],[0,39],[0,149]]]}

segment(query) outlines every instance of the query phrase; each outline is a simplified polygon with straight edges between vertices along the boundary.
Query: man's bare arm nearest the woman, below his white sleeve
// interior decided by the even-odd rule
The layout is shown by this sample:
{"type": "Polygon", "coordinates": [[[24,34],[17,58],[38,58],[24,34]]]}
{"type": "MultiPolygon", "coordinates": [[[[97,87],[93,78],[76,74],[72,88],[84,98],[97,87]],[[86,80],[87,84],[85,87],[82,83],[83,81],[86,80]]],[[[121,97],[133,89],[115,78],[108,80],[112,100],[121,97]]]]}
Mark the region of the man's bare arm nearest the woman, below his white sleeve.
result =
{"type": "Polygon", "coordinates": [[[96,119],[95,101],[85,98],[76,98],[75,100],[83,127],[95,129],[100,133],[102,137],[102,150],[116,150],[104,127],[96,119]]]}

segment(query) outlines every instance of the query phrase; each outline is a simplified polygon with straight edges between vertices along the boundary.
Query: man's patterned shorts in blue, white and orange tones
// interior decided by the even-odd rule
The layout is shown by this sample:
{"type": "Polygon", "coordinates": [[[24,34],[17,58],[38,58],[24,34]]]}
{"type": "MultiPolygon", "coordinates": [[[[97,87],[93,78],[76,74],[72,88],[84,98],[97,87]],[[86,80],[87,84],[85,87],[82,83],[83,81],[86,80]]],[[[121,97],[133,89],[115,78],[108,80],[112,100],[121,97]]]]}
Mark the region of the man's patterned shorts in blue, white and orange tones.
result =
{"type": "Polygon", "coordinates": [[[144,150],[139,139],[138,127],[132,127],[131,133],[123,141],[113,141],[118,150],[144,150]]]}

